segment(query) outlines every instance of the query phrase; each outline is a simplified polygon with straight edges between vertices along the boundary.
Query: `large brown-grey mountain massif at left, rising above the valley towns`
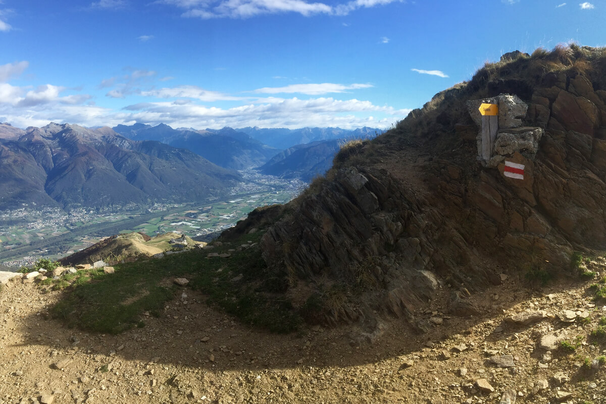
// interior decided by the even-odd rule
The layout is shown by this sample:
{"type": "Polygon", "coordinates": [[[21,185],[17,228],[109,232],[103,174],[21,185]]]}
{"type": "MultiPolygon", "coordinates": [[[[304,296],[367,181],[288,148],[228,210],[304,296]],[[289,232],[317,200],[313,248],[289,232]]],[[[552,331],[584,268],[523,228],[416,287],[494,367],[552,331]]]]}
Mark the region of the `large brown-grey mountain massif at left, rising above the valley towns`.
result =
{"type": "Polygon", "coordinates": [[[110,128],[0,124],[0,207],[108,207],[190,201],[241,181],[191,151],[133,141],[110,128]]]}

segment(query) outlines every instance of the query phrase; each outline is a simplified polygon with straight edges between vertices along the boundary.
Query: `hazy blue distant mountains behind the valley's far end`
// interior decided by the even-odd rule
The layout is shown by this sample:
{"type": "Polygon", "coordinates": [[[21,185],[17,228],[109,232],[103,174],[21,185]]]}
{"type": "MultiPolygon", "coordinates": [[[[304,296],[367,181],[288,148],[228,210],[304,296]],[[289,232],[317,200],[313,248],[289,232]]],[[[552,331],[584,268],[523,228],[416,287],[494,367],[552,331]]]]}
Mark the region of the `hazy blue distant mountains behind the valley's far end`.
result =
{"type": "Polygon", "coordinates": [[[359,128],[285,128],[248,127],[219,130],[193,128],[173,129],[159,124],[118,125],[116,132],[129,139],[159,141],[187,148],[220,165],[241,170],[261,167],[262,173],[285,178],[310,180],[331,167],[339,150],[338,139],[375,137],[381,130],[359,128]]]}

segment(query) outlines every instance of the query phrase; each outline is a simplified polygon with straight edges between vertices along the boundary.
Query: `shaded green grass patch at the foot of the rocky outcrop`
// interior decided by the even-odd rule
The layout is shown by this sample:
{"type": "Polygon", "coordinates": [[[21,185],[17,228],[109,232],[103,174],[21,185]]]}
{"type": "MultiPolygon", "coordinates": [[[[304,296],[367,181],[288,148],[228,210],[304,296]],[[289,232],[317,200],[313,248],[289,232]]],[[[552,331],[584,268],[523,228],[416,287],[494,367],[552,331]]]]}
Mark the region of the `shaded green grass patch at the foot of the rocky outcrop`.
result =
{"type": "Polygon", "coordinates": [[[226,253],[260,238],[261,232],[257,232],[212,250],[198,249],[116,265],[114,274],[82,270],[42,284],[64,289],[64,296],[50,310],[54,317],[70,327],[99,333],[116,334],[143,326],[145,311],[161,316],[167,302],[184,290],[173,283],[178,277],[190,281],[185,288],[201,291],[211,306],[244,323],[275,333],[296,331],[301,317],[279,294],[287,287],[284,274],[265,266],[257,246],[231,252],[228,258],[206,257],[210,252],[226,253]],[[240,274],[241,279],[237,280],[240,274]]]}

